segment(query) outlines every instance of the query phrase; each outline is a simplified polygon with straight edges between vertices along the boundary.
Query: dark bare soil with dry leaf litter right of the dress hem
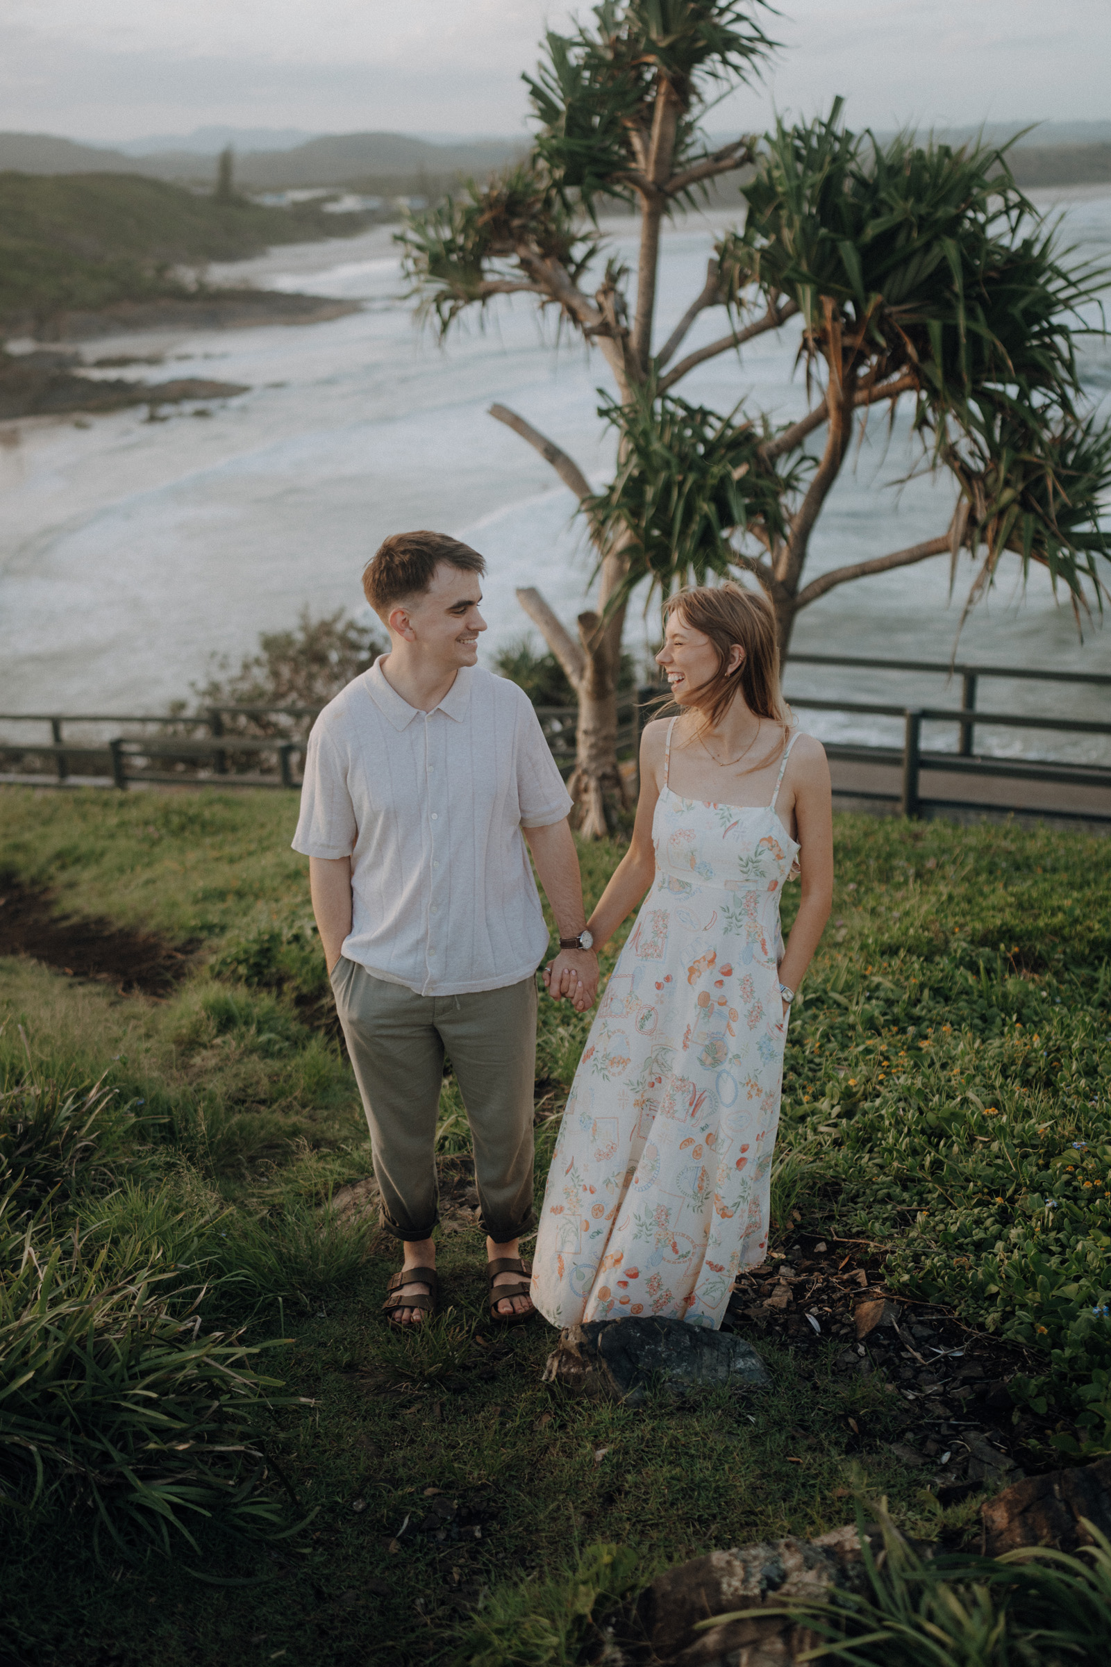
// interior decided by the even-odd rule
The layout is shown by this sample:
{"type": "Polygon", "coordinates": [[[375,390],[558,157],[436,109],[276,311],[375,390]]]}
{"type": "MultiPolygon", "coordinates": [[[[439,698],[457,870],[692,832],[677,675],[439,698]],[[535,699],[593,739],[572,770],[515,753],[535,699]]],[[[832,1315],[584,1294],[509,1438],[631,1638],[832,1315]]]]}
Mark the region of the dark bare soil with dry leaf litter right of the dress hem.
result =
{"type": "MultiPolygon", "coordinates": [[[[883,1385],[896,1400],[903,1464],[921,1469],[949,1505],[994,1492],[1059,1457],[1048,1437],[1059,1420],[1014,1415],[1008,1387],[1036,1357],[969,1330],[948,1310],[896,1297],[883,1285],[883,1252],[861,1240],[796,1237],[785,1252],[738,1277],[725,1324],[753,1342],[776,1339],[798,1354],[839,1344],[833,1370],[883,1385]]],[[[873,1399],[873,1397],[869,1397],[873,1399]]],[[[891,1415],[884,1409],[883,1424],[891,1415]]],[[[876,1447],[874,1414],[848,1415],[848,1452],[876,1447]]]]}

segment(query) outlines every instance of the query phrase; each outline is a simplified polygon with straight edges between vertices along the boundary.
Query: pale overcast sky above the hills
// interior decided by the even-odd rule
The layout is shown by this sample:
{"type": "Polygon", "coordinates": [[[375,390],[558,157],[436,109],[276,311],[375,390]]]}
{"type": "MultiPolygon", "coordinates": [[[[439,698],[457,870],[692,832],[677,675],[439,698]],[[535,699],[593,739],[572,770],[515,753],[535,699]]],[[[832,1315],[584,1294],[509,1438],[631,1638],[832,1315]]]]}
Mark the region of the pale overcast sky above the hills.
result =
{"type": "MultiPolygon", "coordinates": [[[[580,8],[585,10],[585,8],[580,8]]],[[[0,125],[85,140],[205,123],[513,133],[545,0],[3,0],[0,125]]],[[[893,127],[1111,117],[1111,0],[783,0],[763,85],[711,127],[773,107],[893,127]]]]}

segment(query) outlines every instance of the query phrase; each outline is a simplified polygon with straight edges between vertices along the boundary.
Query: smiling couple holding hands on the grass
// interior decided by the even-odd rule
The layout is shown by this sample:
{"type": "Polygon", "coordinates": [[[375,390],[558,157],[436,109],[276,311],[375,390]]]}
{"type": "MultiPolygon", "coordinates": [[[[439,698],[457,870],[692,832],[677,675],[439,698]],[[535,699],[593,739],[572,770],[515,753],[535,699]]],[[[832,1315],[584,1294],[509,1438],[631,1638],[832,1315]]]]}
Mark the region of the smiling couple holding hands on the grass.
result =
{"type": "Polygon", "coordinates": [[[490,1315],[666,1315],[718,1327],[765,1260],[790,1007],[833,892],[830,773],[791,727],[775,617],[738,585],[665,607],[673,718],[641,738],[630,847],[590,920],[571,800],[536,713],[478,667],[485,560],[386,538],[363,588],[390,652],[323,708],[293,849],[355,1069],[393,1325],[435,1312],[435,1130],[445,1054],[475,1147],[490,1315]],[[530,865],[531,852],[531,865],[530,865]],[[583,1050],[533,1210],[536,967],[586,1012],[598,950],[640,905],[583,1050]],[[786,945],[780,897],[801,874],[786,945]],[[538,1227],[531,1275],[518,1254],[538,1227]]]}

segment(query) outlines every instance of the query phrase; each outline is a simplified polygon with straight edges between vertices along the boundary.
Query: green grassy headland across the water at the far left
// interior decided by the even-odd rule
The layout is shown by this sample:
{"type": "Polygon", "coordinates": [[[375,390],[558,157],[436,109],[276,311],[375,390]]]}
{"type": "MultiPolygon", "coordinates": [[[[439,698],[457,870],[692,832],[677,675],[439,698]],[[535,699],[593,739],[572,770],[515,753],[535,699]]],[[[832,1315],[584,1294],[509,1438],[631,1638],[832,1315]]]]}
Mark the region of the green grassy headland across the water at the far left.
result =
{"type": "Polygon", "coordinates": [[[218,203],[138,173],[0,173],[0,328],[25,313],[185,293],[165,268],[242,260],[363,223],[310,203],[218,203]]]}

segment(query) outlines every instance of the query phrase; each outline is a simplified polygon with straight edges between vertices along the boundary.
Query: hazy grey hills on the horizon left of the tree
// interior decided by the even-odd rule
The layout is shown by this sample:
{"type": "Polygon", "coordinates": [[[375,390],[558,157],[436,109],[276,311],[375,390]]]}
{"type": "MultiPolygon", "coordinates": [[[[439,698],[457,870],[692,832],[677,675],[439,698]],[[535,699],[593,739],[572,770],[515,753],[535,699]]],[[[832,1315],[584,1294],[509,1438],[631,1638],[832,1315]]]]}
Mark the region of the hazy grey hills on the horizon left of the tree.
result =
{"type": "MultiPolygon", "coordinates": [[[[333,133],[291,150],[237,153],[235,178],[248,190],[363,185],[403,192],[423,177],[436,190],[460,173],[490,173],[521,155],[526,145],[525,138],[436,145],[405,133],[333,133]]],[[[157,180],[207,183],[215,173],[215,157],[200,150],[160,150],[137,157],[50,133],[0,133],[0,170],[7,168],[20,173],[145,173],[157,180]]]]}

